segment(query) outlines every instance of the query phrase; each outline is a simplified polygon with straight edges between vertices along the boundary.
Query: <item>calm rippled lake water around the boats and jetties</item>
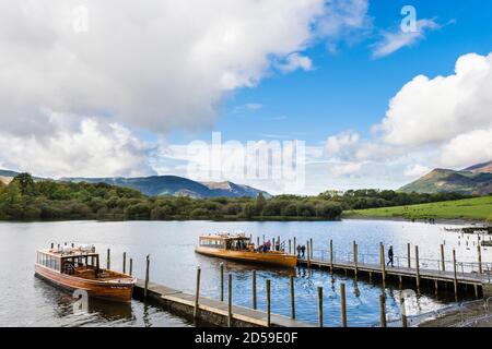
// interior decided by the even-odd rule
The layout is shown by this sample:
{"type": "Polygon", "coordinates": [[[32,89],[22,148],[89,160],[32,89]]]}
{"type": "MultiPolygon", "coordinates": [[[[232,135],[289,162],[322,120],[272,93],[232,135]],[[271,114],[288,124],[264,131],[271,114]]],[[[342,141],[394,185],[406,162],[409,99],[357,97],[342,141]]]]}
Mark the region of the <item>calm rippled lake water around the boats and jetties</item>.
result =
{"type": "MultiPolygon", "coordinates": [[[[61,222],[0,222],[0,326],[192,326],[192,323],[161,309],[133,300],[121,305],[90,301],[89,313],[74,313],[71,294],[65,293],[34,277],[35,251],[49,248],[50,242],[95,244],[105,266],[106,249],[112,249],[112,268],[122,268],[122,253],[133,258],[133,275],[143,277],[145,255],[151,255],[151,280],[187,292],[195,291],[196,268],[200,266],[201,293],[219,299],[220,263],[222,261],[197,255],[194,249],[198,237],[216,231],[244,231],[267,239],[297,238],[297,243],[314,240],[316,250],[328,250],[333,240],[337,256],[352,251],[359,243],[360,254],[379,253],[379,242],[393,245],[396,255],[406,256],[407,243],[418,244],[421,258],[438,258],[440,244],[445,241],[446,253],[456,249],[458,261],[477,261],[475,236],[446,231],[453,225],[427,225],[407,221],[342,220],[332,222],[211,222],[211,221],[61,221],[61,222]],[[469,239],[469,240],[468,240],[469,239]],[[458,242],[461,243],[458,243],[458,242]],[[468,242],[468,246],[466,245],[468,242]]],[[[413,248],[412,248],[413,249],[413,248]]],[[[413,251],[413,250],[412,250],[413,251]]],[[[320,251],[315,254],[320,255],[320,251]]],[[[492,262],[492,249],[482,252],[484,262],[492,262]]],[[[225,272],[233,275],[233,302],[251,304],[250,270],[253,266],[224,262],[225,272]]],[[[387,313],[399,316],[398,285],[382,289],[378,280],[354,281],[349,274],[330,275],[305,268],[293,270],[259,268],[257,272],[258,308],[266,309],[265,280],[271,279],[272,312],[290,314],[289,277],[295,275],[296,315],[298,320],[316,323],[317,290],[324,287],[324,322],[338,326],[340,318],[339,285],[347,285],[349,326],[372,326],[378,323],[378,297],[387,296],[387,313]]],[[[376,279],[376,277],[375,277],[376,279]]],[[[452,302],[453,294],[433,291],[413,297],[407,302],[409,315],[440,309],[452,302]]]]}

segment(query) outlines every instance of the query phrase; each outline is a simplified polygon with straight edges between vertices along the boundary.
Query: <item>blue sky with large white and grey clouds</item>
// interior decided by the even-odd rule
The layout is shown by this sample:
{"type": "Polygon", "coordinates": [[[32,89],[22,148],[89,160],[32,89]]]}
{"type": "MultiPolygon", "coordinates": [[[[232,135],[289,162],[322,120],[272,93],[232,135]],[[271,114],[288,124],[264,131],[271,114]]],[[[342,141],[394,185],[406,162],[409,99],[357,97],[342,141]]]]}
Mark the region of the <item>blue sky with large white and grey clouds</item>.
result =
{"type": "Polygon", "coordinates": [[[490,13],[478,0],[0,0],[0,168],[195,178],[190,144],[218,132],[305,142],[301,188],[212,178],[272,193],[397,189],[491,160],[490,13]]]}

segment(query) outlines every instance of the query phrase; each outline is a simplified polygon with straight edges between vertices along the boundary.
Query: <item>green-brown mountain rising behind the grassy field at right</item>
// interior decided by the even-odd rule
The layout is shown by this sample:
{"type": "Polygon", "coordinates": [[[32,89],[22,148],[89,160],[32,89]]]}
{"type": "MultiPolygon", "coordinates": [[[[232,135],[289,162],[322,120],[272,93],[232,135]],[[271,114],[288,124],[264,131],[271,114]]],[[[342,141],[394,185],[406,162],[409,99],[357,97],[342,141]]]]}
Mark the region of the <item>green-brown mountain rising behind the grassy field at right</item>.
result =
{"type": "Polygon", "coordinates": [[[492,172],[488,171],[491,164],[492,161],[475,165],[461,171],[435,169],[417,181],[400,188],[399,191],[407,193],[457,192],[469,195],[487,195],[492,193],[492,172]]]}

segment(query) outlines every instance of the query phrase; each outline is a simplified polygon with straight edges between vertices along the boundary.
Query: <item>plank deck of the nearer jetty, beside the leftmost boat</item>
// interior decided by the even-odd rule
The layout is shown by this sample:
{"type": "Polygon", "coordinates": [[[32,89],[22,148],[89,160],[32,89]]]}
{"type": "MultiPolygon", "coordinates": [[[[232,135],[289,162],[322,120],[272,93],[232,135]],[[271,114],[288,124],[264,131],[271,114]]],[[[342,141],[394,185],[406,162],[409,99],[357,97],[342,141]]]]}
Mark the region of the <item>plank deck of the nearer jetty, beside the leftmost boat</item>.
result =
{"type": "MultiPolygon", "coordinates": [[[[133,297],[142,299],[144,280],[137,280],[133,297]]],[[[155,282],[149,282],[148,298],[163,305],[171,313],[187,318],[194,317],[195,294],[185,293],[155,282]]],[[[199,320],[213,326],[227,326],[229,304],[210,298],[199,297],[199,320]]],[[[267,327],[267,313],[239,305],[232,305],[232,326],[234,327],[267,327]]],[[[286,316],[270,314],[271,327],[314,327],[315,325],[292,320],[286,316]]]]}

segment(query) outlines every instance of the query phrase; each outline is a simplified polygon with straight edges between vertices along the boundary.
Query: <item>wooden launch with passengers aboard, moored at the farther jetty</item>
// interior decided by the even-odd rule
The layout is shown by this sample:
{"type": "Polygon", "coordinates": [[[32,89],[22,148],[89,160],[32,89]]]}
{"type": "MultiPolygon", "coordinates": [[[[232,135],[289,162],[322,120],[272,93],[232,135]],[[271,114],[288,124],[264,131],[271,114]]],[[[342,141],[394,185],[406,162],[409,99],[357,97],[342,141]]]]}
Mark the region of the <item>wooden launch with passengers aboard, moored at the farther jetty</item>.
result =
{"type": "Polygon", "coordinates": [[[295,267],[297,256],[284,251],[266,251],[255,246],[250,238],[244,234],[209,234],[199,238],[195,252],[208,256],[233,260],[237,262],[269,264],[283,267],[295,267]]]}

